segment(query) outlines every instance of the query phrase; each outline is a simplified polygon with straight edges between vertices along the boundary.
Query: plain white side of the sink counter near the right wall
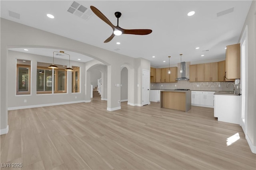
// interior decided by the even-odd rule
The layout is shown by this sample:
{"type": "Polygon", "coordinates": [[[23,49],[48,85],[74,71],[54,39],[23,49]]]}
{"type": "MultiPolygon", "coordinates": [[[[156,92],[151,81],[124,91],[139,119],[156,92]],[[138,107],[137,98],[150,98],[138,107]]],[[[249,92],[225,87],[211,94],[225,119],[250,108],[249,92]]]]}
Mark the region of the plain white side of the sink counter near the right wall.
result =
{"type": "Polygon", "coordinates": [[[241,96],[214,95],[214,117],[218,121],[240,124],[241,96]]]}

